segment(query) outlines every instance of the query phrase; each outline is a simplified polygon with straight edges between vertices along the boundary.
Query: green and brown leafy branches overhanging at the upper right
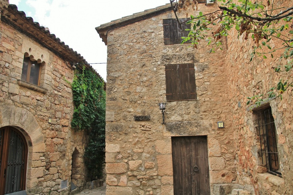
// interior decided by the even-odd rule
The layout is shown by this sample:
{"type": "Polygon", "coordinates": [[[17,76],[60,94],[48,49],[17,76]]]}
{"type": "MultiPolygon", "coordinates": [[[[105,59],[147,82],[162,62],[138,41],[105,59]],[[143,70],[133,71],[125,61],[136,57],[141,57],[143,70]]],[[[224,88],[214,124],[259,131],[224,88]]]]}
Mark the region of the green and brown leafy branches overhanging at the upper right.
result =
{"type": "MultiPolygon", "coordinates": [[[[287,64],[282,65],[282,67],[272,67],[275,70],[273,74],[282,73],[282,78],[286,77],[291,81],[293,66],[292,14],[287,16],[287,12],[277,13],[279,11],[276,10],[282,8],[273,7],[269,1],[237,0],[236,2],[235,0],[218,0],[217,4],[220,8],[219,11],[210,13],[200,11],[198,16],[191,16],[194,19],[190,20],[190,23],[193,23],[193,28],[188,35],[190,40],[187,37],[182,37],[184,38],[183,42],[190,41],[192,46],[197,48],[197,44],[204,39],[209,47],[209,52],[214,53],[216,47],[222,49],[221,38],[229,36],[230,30],[235,28],[233,33],[236,31],[237,37],[241,38],[243,43],[248,39],[252,39],[254,42],[250,62],[253,61],[254,56],[256,60],[270,58],[273,64],[285,62],[287,64]],[[263,5],[263,2],[270,5],[263,5]],[[280,17],[283,18],[280,19],[280,17]],[[211,29],[212,33],[209,33],[208,30],[211,29]],[[274,57],[283,59],[280,61],[272,60],[274,57]],[[286,72],[287,75],[285,75],[286,72]]],[[[253,61],[253,64],[256,62],[253,61]]],[[[269,64],[268,62],[265,63],[269,64]]],[[[279,93],[278,97],[282,98],[282,93],[289,86],[291,84],[286,85],[282,81],[278,83],[276,88],[269,91],[268,96],[275,97],[275,93],[279,93]]],[[[262,96],[253,97],[248,100],[247,104],[252,101],[261,102],[262,96]]]]}

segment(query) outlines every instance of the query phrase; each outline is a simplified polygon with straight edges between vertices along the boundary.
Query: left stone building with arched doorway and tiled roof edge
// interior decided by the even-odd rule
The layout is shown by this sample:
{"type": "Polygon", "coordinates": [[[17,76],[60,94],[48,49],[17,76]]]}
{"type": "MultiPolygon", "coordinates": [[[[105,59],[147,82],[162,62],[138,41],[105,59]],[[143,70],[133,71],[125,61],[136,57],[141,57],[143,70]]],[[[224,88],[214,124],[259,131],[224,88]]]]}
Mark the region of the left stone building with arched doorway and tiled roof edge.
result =
{"type": "Polygon", "coordinates": [[[71,129],[74,63],[54,34],[1,1],[0,194],[69,194],[85,184],[86,134],[71,129]]]}

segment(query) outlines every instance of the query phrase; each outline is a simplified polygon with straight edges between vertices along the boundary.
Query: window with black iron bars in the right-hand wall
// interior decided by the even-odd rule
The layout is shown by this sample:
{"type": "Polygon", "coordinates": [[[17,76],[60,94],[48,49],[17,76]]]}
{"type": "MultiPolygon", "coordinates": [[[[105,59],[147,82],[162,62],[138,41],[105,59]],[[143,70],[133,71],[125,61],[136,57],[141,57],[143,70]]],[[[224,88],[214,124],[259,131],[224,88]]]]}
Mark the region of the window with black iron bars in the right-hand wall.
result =
{"type": "Polygon", "coordinates": [[[271,108],[258,112],[256,129],[260,142],[258,164],[265,166],[268,172],[274,175],[282,175],[277,149],[277,133],[271,108]]]}

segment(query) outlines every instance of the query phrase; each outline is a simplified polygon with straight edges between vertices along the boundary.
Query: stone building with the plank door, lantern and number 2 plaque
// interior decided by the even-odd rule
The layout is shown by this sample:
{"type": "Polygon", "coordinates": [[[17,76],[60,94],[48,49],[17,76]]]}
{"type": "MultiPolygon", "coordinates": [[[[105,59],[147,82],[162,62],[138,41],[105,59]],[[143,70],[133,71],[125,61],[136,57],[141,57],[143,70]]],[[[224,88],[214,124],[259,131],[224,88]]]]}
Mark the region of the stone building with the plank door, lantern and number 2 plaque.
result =
{"type": "MultiPolygon", "coordinates": [[[[216,9],[200,3],[188,16],[216,9]]],[[[170,4],[96,30],[108,47],[107,195],[291,194],[292,88],[282,101],[246,106],[277,83],[271,67],[285,59],[249,62],[253,41],[233,31],[223,51],[180,45],[186,33],[170,4]]]]}

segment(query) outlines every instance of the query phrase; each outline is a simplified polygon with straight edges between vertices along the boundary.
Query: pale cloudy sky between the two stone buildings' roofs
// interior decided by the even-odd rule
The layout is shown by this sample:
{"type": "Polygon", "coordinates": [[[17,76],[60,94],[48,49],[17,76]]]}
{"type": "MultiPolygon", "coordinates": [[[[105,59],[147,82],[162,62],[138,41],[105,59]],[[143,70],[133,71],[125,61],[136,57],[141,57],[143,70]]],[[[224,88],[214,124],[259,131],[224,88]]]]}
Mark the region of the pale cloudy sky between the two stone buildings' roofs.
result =
{"type": "MultiPolygon", "coordinates": [[[[170,3],[169,0],[9,0],[35,22],[48,27],[88,63],[106,63],[107,46],[96,27],[133,13],[170,3]]],[[[106,80],[106,64],[91,64],[106,80]]]]}

